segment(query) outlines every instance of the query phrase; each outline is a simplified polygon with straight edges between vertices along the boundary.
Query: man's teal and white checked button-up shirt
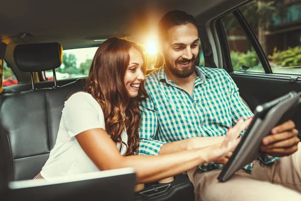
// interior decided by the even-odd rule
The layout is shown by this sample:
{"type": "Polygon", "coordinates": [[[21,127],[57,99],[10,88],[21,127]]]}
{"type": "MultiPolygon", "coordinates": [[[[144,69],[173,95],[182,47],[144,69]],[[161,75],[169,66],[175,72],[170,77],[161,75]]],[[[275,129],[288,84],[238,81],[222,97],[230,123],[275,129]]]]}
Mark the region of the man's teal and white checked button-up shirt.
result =
{"type": "MultiPolygon", "coordinates": [[[[158,155],[165,143],[187,138],[224,136],[240,117],[253,116],[225,70],[196,67],[196,72],[193,97],[167,78],[164,67],[145,77],[149,98],[140,102],[138,154],[158,155]]],[[[260,160],[267,164],[278,158],[265,156],[260,160]]],[[[250,163],[244,168],[251,170],[252,166],[250,163]]],[[[213,162],[199,165],[205,171],[216,167],[223,165],[213,162]]]]}

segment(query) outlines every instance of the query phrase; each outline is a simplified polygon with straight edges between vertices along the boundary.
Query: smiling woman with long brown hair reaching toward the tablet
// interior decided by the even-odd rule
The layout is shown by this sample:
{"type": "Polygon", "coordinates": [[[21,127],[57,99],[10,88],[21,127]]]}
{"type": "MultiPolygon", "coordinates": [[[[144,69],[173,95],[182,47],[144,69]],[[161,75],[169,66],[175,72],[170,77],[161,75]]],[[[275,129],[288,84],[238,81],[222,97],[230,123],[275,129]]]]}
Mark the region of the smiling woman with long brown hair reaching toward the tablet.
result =
{"type": "Polygon", "coordinates": [[[85,91],[65,102],[58,137],[35,178],[133,167],[137,182],[150,182],[216,161],[233,150],[250,120],[229,129],[223,143],[159,156],[135,155],[139,143],[138,102],[144,90],[144,51],[133,42],[109,38],[98,48],[85,91]]]}

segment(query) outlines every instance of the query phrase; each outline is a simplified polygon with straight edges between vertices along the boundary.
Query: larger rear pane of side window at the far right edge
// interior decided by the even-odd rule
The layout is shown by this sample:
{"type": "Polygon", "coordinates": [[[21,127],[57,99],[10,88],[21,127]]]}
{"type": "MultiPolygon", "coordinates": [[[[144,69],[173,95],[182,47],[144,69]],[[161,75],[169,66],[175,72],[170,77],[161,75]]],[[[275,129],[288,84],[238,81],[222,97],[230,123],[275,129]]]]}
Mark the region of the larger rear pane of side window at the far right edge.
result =
{"type": "Polygon", "coordinates": [[[273,73],[301,74],[301,2],[255,1],[240,9],[267,55],[273,73]],[[253,8],[259,22],[249,15],[253,8]]]}

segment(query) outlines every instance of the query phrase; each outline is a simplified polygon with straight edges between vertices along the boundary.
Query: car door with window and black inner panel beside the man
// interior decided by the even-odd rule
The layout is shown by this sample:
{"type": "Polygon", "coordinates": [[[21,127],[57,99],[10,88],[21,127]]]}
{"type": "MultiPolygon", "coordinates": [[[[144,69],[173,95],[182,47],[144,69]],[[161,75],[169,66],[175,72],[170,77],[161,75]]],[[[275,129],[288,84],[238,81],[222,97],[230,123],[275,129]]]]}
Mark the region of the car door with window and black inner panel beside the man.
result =
{"type": "MultiPolygon", "coordinates": [[[[260,16],[265,14],[260,12],[269,10],[258,9],[259,3],[260,1],[251,2],[221,17],[215,24],[223,68],[233,78],[242,98],[252,111],[258,104],[289,91],[301,91],[301,28],[293,24],[301,24],[301,16],[290,19],[290,24],[287,23],[287,18],[281,19],[283,16],[292,15],[289,8],[296,5],[293,2],[289,5],[269,3],[265,6],[274,7],[269,9],[280,10],[276,14],[266,14],[265,21],[262,21],[260,16]],[[281,7],[289,8],[282,11],[281,7]],[[269,25],[262,25],[267,21],[269,25]]],[[[297,6],[300,8],[300,5],[297,6]]],[[[300,132],[301,107],[295,111],[292,120],[300,132]]]]}

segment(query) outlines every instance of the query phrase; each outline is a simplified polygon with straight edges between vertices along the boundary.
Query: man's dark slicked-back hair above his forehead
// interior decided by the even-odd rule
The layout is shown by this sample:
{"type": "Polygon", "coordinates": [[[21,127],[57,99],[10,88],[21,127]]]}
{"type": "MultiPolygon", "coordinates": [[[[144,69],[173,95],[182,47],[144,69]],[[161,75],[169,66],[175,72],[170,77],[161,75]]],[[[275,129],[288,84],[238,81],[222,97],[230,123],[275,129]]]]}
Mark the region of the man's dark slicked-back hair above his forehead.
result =
{"type": "Polygon", "coordinates": [[[174,26],[186,25],[188,23],[197,27],[197,21],[192,15],[188,15],[184,11],[170,11],[165,14],[158,24],[158,39],[160,43],[166,39],[167,32],[174,26]]]}

